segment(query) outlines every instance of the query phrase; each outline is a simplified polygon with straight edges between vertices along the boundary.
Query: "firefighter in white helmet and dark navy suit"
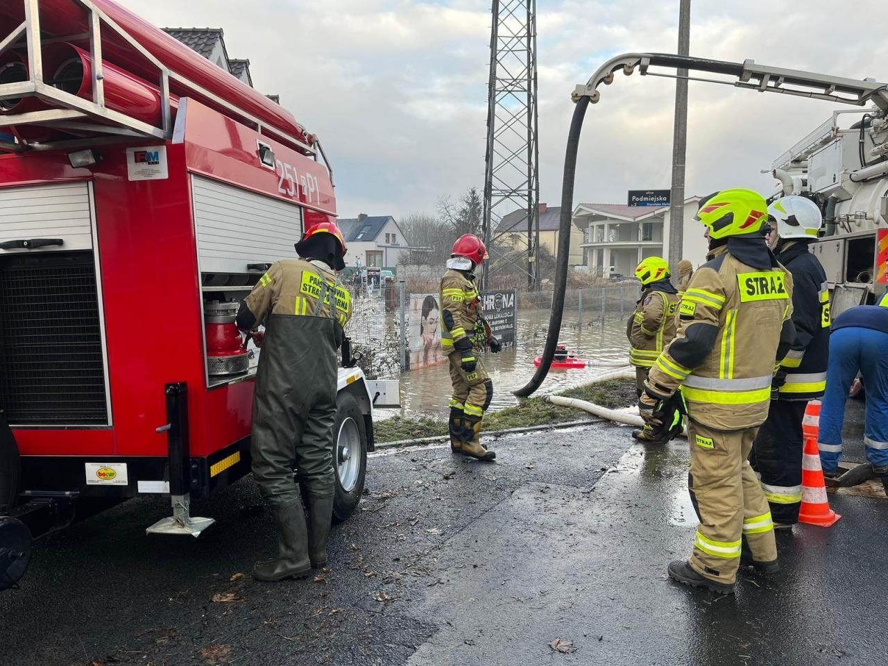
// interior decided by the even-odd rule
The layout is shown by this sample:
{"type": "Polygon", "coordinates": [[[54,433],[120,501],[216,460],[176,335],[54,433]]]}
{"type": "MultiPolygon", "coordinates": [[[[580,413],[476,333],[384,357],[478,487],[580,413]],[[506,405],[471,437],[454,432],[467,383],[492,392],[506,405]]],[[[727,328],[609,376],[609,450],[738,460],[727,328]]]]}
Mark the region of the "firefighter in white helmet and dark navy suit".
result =
{"type": "Polygon", "coordinates": [[[802,502],[802,418],[808,400],[826,389],[829,359],[829,285],[821,262],[808,250],[823,218],[804,196],[785,196],[768,207],[768,244],[792,275],[796,339],[774,377],[768,418],[749,462],[760,475],[774,527],[791,528],[802,502]]]}

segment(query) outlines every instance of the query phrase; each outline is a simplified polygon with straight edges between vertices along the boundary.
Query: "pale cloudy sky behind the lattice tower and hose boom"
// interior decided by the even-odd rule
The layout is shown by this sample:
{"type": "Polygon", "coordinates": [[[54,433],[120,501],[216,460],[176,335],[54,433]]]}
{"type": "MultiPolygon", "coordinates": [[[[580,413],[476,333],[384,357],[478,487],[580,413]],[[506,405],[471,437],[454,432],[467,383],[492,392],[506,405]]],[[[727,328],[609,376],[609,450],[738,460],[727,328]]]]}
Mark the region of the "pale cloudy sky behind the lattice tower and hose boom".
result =
{"type": "MultiPolygon", "coordinates": [[[[121,0],[155,25],[225,30],[256,87],[318,134],[339,214],[432,211],[483,185],[489,0],[121,0]]],[[[884,0],[693,0],[691,52],[888,81],[884,0]]],[[[541,201],[560,200],[570,92],[621,52],[675,52],[678,0],[538,0],[541,201]]],[[[675,83],[620,75],[583,127],[576,202],[668,188],[675,83]]],[[[829,102],[691,83],[687,193],[773,192],[759,173],[829,102]]]]}

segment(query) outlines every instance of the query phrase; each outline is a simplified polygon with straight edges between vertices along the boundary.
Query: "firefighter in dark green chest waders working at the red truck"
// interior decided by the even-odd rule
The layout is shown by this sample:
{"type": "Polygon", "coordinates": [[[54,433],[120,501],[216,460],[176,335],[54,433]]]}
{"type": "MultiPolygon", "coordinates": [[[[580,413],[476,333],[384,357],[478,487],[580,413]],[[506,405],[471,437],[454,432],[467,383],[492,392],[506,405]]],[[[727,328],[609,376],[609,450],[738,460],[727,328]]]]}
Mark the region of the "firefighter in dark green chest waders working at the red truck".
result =
{"type": "Polygon", "coordinates": [[[337,349],[352,313],[349,293],[337,285],[335,273],[345,267],[345,240],[335,224],[322,222],[296,250],[301,258],[269,268],[237,314],[242,331],[265,324],[264,335],[253,334],[262,353],[250,455],[259,491],[274,514],[279,551],[253,569],[261,581],[324,567],[333,517],[337,349]]]}

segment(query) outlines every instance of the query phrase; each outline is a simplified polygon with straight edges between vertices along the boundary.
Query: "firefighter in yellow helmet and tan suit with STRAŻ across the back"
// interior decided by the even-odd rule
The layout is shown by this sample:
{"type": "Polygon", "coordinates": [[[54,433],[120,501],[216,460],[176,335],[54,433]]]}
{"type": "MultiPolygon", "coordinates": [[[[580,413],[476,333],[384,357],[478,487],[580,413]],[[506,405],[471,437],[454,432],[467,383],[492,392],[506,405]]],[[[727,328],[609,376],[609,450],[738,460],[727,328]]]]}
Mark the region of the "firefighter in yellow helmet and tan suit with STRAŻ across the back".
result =
{"type": "Polygon", "coordinates": [[[678,335],[654,363],[639,400],[646,427],[674,423],[681,391],[691,449],[688,487],[700,525],[688,560],[672,579],[733,593],[741,563],[777,570],[771,511],[749,452],[771,401],[774,366],[795,340],[792,277],[762,235],[765,199],[732,189],[697,212],[710,242],[678,307],[678,335]],[[749,554],[743,554],[744,545],[749,554]]]}

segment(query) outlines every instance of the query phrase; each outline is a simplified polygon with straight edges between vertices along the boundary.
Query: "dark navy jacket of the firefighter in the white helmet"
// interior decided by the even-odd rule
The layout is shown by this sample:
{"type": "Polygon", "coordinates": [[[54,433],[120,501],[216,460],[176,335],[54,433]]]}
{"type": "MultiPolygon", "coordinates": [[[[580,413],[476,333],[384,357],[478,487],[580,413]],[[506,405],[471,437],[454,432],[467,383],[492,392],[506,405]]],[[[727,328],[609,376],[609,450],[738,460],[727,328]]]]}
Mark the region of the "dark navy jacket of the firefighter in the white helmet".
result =
{"type": "Polygon", "coordinates": [[[789,242],[777,260],[792,274],[792,323],[796,340],[781,361],[786,382],[781,400],[812,400],[823,395],[829,360],[829,285],[821,262],[805,242],[789,242]]]}

